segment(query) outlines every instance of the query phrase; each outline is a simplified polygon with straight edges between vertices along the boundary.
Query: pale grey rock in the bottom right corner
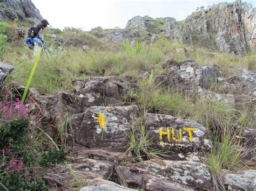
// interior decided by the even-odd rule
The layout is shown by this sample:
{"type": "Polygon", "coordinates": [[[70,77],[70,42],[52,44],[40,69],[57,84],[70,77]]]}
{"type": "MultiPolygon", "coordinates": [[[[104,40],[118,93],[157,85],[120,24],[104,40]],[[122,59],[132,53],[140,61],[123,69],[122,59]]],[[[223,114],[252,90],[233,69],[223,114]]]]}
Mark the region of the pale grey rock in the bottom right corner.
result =
{"type": "Polygon", "coordinates": [[[222,179],[228,190],[255,190],[256,171],[228,172],[223,170],[222,179]]]}

